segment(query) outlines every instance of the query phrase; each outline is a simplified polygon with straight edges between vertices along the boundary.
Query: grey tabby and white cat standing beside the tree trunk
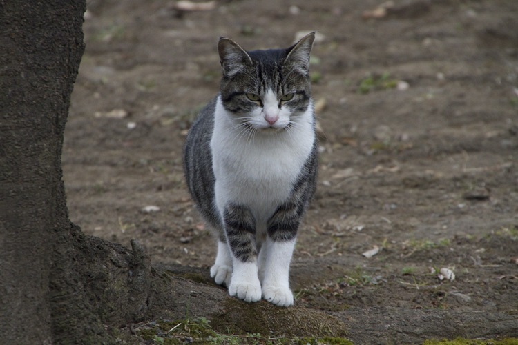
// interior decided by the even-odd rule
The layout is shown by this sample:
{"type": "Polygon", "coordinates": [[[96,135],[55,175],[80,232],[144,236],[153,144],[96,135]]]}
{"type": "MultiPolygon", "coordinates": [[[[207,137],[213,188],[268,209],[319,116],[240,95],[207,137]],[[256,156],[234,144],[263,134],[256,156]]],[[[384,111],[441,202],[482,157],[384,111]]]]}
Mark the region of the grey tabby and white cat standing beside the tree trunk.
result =
{"type": "Polygon", "coordinates": [[[318,170],[314,39],[247,52],[220,38],[220,93],[186,138],[186,184],[218,242],[211,277],[246,302],[294,304],[289,264],[318,170]]]}

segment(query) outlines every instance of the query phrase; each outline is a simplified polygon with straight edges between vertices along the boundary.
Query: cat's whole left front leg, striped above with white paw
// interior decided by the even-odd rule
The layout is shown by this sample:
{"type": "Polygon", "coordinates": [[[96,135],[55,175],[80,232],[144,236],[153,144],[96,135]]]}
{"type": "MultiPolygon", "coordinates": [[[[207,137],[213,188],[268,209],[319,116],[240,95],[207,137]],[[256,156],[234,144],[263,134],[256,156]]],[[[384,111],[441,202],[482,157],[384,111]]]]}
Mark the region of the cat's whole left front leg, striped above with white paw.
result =
{"type": "Polygon", "coordinates": [[[223,221],[229,244],[233,273],[229,294],[257,302],[261,299],[261,284],[258,278],[256,220],[246,206],[227,204],[223,221]]]}

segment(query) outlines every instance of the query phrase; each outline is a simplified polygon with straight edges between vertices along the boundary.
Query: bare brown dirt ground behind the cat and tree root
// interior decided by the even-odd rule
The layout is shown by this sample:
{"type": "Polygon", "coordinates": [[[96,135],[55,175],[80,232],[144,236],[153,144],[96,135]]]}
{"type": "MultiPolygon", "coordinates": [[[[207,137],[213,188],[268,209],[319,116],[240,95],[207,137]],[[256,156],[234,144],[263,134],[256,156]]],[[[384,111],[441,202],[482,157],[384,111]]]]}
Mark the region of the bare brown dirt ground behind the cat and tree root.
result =
{"type": "Polygon", "coordinates": [[[88,1],[62,159],[70,219],[138,239],[155,264],[208,270],[181,154],[218,92],[218,37],[253,50],[318,30],[320,171],[296,304],[517,314],[518,2],[396,0],[365,19],[381,2],[88,1]]]}

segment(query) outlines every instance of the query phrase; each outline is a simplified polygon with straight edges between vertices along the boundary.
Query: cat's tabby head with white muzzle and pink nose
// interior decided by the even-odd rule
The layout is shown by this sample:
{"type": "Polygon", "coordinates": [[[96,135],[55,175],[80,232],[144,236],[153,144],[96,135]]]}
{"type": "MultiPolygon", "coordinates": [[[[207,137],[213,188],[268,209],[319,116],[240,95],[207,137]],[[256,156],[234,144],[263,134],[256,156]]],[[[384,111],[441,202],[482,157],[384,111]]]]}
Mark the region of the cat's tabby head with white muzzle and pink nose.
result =
{"type": "Polygon", "coordinates": [[[309,55],[314,39],[311,33],[287,49],[247,52],[222,37],[218,52],[224,108],[236,121],[262,132],[287,128],[309,106],[309,55]]]}

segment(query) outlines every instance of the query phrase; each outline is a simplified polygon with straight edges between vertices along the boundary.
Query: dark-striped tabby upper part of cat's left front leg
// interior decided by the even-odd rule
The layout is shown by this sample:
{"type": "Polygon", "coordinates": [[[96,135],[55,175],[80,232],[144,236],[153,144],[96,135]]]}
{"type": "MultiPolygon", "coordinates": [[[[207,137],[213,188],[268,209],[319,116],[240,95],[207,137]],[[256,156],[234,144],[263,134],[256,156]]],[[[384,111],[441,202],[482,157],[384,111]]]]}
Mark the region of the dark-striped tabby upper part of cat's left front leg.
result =
{"type": "Polygon", "coordinates": [[[223,212],[227,242],[240,262],[254,262],[257,258],[256,219],[246,206],[229,204],[223,212]]]}

